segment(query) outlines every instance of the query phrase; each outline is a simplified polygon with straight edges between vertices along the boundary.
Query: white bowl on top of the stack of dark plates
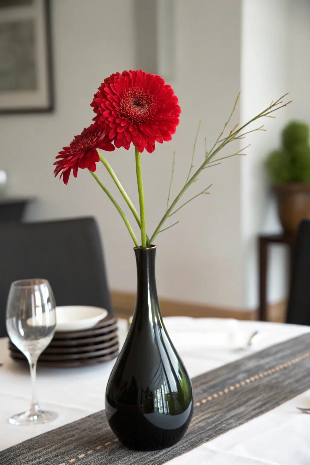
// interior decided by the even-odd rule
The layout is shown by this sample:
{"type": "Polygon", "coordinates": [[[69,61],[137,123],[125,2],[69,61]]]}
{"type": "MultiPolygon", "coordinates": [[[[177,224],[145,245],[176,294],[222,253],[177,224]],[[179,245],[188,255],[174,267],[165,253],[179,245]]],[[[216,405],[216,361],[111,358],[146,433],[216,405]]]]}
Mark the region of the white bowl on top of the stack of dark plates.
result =
{"type": "Polygon", "coordinates": [[[56,331],[81,331],[92,328],[106,318],[108,311],[99,307],[62,306],[56,307],[56,331]]]}

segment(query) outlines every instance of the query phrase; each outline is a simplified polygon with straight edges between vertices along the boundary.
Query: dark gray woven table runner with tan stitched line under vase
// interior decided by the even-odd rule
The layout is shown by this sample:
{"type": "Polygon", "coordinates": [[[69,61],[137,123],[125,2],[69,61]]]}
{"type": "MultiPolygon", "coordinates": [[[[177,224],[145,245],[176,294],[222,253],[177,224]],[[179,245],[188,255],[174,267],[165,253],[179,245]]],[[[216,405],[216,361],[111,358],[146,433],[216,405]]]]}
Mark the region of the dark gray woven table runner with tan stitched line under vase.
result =
{"type": "Polygon", "coordinates": [[[194,378],[191,424],[169,449],[126,449],[100,411],[0,452],[0,464],[164,464],[309,389],[309,351],[310,334],[305,334],[194,378]]]}

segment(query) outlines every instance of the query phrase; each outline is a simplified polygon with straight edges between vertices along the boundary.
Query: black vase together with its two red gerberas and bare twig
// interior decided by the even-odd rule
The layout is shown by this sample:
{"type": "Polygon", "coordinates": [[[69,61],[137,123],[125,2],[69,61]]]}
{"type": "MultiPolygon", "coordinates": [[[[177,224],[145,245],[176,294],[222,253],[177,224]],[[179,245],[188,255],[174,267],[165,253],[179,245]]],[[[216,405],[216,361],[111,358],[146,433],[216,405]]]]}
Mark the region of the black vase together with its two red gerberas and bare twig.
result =
{"type": "MultiPolygon", "coordinates": [[[[92,100],[94,124],[75,136],[70,145],[63,147],[56,157],[54,174],[57,176],[60,173],[65,184],[71,173],[77,177],[79,169],[88,169],[118,210],[135,245],[138,281],[136,308],[125,344],[106,388],[109,425],[119,441],[131,449],[163,449],[176,444],[184,435],[195,407],[191,380],[169,338],[160,313],[155,281],[155,239],[159,233],[178,223],[176,221],[166,226],[166,221],[172,215],[191,200],[208,192],[211,185],[184,203],[180,202],[187,191],[197,186],[195,183],[198,178],[201,180],[208,173],[208,170],[204,170],[219,165],[223,159],[244,155],[246,147],[226,156],[220,156],[221,150],[231,142],[244,139],[248,133],[264,130],[263,126],[248,130],[248,126],[264,117],[270,117],[270,113],[286,106],[289,102],[284,102],[283,97],[272,102],[250,121],[237,124],[229,130],[238,95],[222,132],[208,151],[205,147],[198,164],[194,159],[197,132],[189,160],[189,172],[175,198],[171,195],[173,157],[166,209],[158,226],[149,235],[145,220],[142,158],[149,163],[160,161],[152,153],[158,143],[172,139],[181,113],[178,97],[160,76],[141,70],[111,74],[99,86],[92,100]],[[139,213],[105,158],[106,152],[119,147],[132,149],[131,162],[136,165],[139,213]],[[106,181],[97,175],[99,162],[105,167],[104,174],[112,177],[125,206],[131,211],[140,239],[119,202],[107,189],[106,181]]],[[[148,213],[147,218],[151,213],[148,213]]]]}

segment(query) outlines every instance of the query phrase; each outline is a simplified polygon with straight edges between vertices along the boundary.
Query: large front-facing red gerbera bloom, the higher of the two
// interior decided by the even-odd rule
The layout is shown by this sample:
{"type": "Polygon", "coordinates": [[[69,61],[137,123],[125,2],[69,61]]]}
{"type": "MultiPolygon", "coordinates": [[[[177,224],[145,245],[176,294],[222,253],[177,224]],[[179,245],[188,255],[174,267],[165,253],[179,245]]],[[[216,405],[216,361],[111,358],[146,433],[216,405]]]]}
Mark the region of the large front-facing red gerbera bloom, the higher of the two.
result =
{"type": "Polygon", "coordinates": [[[91,103],[96,124],[116,147],[127,150],[133,143],[152,153],[155,141],[171,140],[181,108],[171,86],[155,74],[124,71],[106,78],[91,103]]]}

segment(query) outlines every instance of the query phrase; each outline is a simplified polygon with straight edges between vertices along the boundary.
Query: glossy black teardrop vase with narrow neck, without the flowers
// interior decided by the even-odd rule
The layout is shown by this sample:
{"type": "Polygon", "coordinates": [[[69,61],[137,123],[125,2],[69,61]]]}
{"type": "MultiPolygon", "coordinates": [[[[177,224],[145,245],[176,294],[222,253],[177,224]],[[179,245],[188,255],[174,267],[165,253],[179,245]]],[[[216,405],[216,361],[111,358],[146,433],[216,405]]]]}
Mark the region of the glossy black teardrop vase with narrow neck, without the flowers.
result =
{"type": "Polygon", "coordinates": [[[176,444],[191,421],[191,380],[165,329],[155,281],[156,246],[134,249],[138,287],[125,344],[106,387],[106,415],[134,450],[176,444]]]}

